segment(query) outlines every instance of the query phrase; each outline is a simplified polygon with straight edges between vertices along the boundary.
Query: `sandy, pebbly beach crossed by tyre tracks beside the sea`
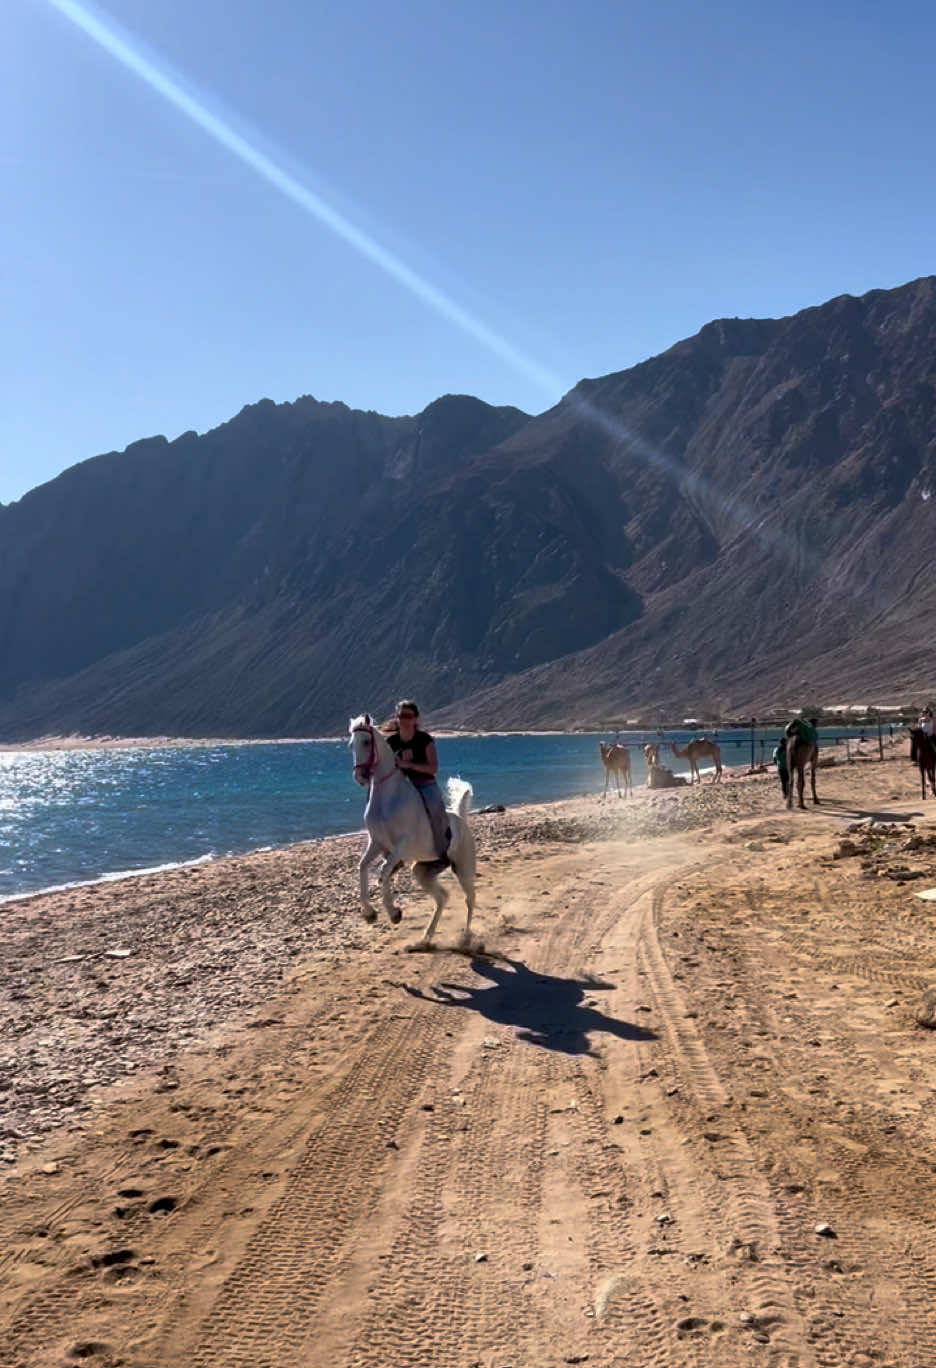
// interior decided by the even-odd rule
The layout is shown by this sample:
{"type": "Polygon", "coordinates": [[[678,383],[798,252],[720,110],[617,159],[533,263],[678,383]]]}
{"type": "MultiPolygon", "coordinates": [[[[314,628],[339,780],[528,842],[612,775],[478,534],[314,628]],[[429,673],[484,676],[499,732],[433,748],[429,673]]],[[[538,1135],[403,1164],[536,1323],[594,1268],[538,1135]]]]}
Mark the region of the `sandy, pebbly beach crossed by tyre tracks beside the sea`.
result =
{"type": "Polygon", "coordinates": [[[476,815],[475,959],[360,837],[0,907],[0,1363],[936,1361],[936,802],[818,789],[476,815]]]}

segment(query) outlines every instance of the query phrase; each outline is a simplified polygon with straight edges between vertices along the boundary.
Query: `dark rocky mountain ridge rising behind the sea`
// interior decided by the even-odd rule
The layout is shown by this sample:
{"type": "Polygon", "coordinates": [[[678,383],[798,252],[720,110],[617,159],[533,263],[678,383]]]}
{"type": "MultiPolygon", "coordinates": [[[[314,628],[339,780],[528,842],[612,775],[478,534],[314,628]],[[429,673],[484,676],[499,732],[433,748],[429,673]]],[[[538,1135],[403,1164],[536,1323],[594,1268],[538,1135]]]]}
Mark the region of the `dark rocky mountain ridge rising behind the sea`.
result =
{"type": "Polygon", "coordinates": [[[935,342],[924,278],[710,323],[538,417],[261,401],[85,461],[0,508],[0,736],[913,695],[935,342]]]}

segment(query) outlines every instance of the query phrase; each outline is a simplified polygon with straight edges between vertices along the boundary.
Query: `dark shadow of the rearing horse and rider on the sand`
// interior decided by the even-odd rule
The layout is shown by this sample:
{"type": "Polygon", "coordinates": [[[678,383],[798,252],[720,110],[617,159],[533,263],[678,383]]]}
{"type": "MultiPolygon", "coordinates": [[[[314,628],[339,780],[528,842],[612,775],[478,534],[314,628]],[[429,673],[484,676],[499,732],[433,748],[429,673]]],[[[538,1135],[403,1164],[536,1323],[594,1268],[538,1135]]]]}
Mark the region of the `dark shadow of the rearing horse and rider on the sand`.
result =
{"type": "Polygon", "coordinates": [[[498,1026],[512,1026],[517,1040],[562,1055],[590,1055],[590,1031],[603,1031],[619,1040],[657,1040],[655,1031],[606,1016],[586,1004],[586,993],[608,990],[613,984],[541,974],[519,959],[472,959],[471,967],[487,982],[435,984],[431,993],[409,984],[398,986],[426,1003],[479,1012],[498,1026]]]}

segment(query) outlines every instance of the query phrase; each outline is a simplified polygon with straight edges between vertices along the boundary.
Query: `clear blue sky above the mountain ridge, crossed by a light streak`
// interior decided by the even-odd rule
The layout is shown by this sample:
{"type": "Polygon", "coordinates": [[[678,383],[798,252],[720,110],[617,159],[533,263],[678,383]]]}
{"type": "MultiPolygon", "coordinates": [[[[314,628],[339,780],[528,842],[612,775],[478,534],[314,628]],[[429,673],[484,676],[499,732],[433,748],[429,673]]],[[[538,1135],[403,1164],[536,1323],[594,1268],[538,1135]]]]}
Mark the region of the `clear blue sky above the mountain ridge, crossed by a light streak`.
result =
{"type": "Polygon", "coordinates": [[[3,502],[263,397],[541,412],[713,317],[936,268],[929,5],[7,0],[4,19],[3,502]]]}

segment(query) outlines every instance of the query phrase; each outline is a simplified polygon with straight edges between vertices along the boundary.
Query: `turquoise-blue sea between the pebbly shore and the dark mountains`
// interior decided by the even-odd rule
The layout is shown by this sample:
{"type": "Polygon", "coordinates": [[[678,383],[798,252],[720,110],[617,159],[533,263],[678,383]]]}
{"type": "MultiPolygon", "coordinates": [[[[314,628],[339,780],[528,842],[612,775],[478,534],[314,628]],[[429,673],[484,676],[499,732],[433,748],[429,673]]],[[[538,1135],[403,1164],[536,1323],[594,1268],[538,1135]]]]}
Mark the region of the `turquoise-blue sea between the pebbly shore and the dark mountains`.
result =
{"type": "MultiPolygon", "coordinates": [[[[666,732],[680,744],[692,735],[666,732]]],[[[725,765],[750,763],[749,732],[716,735],[725,765]]],[[[777,735],[758,732],[757,761],[777,735]]],[[[646,780],[639,744],[654,739],[621,736],[635,746],[635,785],[646,780]]],[[[441,737],[441,777],[469,780],[475,807],[597,793],[599,740],[612,736],[441,737]]],[[[672,752],[661,759],[686,772],[672,752]]],[[[364,798],[345,740],[0,752],[0,900],[354,832],[364,798]]]]}

